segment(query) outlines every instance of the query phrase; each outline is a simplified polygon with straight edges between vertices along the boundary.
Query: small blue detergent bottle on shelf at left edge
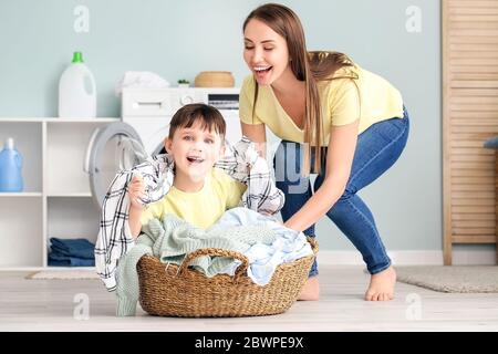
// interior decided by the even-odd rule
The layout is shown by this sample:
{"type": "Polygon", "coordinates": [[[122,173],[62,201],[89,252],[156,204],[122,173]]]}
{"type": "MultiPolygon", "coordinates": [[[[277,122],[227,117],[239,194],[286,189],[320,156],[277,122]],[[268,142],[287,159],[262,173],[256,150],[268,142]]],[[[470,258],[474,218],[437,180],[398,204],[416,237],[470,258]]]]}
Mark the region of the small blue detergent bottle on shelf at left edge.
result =
{"type": "Polygon", "coordinates": [[[22,156],[9,137],[0,152],[0,191],[22,191],[23,188],[22,156]]]}

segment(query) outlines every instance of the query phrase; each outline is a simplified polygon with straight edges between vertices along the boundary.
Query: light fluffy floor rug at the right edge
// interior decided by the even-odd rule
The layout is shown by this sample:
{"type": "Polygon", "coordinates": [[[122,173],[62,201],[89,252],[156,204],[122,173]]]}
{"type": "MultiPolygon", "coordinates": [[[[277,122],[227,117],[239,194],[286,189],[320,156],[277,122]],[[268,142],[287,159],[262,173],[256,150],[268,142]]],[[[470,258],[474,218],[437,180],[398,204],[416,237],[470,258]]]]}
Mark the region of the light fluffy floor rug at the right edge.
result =
{"type": "Polygon", "coordinates": [[[498,266],[396,267],[397,281],[440,292],[498,292],[498,266]]]}

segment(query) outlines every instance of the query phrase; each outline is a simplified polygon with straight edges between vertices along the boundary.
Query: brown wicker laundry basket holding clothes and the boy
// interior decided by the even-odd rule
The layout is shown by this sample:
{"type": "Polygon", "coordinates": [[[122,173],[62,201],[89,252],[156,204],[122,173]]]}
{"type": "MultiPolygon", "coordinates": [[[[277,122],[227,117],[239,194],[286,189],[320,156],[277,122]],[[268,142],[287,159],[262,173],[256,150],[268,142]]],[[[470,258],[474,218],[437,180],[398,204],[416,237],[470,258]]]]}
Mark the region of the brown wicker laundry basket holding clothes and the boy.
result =
{"type": "Polygon", "coordinates": [[[271,281],[257,285],[247,277],[248,259],[234,251],[200,249],[189,253],[180,267],[166,268],[159,259],[144,256],[137,263],[139,302],[152,315],[181,317],[257,316],[286,312],[298,299],[318,251],[309,238],[313,256],[280,264],[271,281]],[[236,274],[212,278],[188,268],[199,256],[234,257],[242,262],[236,274]]]}

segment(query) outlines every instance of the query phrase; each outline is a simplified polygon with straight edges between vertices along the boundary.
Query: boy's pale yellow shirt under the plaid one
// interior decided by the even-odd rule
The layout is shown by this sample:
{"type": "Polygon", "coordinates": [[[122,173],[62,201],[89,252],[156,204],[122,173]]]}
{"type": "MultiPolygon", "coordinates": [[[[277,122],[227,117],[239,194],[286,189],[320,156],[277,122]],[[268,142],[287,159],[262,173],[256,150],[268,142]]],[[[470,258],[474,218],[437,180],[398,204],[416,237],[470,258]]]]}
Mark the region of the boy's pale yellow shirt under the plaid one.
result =
{"type": "Polygon", "coordinates": [[[153,218],[163,220],[168,212],[201,229],[211,227],[226,210],[239,205],[247,186],[218,168],[206,176],[199,191],[185,192],[172,186],[159,201],[151,204],[141,217],[142,226],[153,218]]]}

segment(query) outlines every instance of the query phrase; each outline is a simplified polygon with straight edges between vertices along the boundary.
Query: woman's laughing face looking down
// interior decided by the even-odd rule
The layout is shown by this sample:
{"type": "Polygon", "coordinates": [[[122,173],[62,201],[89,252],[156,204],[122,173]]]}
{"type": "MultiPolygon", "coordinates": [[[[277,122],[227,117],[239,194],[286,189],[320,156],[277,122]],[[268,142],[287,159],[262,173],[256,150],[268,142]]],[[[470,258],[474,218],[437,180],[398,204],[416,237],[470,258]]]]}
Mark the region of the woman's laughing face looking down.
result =
{"type": "Polygon", "coordinates": [[[286,39],[258,19],[247,23],[243,46],[243,60],[260,85],[271,85],[291,70],[286,39]]]}

